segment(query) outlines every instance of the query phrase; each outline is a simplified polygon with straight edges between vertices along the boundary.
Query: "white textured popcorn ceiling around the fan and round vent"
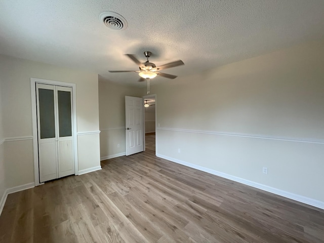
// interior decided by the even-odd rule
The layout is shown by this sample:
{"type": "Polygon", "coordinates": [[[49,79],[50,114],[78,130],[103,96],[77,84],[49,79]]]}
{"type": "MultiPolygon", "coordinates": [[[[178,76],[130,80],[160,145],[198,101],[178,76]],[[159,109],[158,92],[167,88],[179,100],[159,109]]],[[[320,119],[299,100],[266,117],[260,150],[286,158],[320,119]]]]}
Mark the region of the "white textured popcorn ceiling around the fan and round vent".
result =
{"type": "Polygon", "coordinates": [[[163,72],[184,76],[323,38],[323,0],[0,1],[0,54],[124,84],[146,85],[137,73],[108,72],[138,69],[126,53],[145,61],[151,51],[156,65],[181,59],[184,66],[163,72]],[[128,28],[108,29],[99,20],[106,11],[123,16],[128,28]]]}

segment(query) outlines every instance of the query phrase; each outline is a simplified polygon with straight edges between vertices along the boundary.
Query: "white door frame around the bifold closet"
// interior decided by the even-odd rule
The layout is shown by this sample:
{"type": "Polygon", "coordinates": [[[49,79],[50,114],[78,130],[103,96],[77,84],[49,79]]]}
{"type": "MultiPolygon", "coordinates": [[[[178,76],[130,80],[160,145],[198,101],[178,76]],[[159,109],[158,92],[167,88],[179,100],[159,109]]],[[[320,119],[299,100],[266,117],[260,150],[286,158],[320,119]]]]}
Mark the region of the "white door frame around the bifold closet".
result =
{"type": "Polygon", "coordinates": [[[74,153],[74,174],[78,175],[78,158],[77,158],[77,130],[76,130],[76,85],[72,83],[48,80],[42,78],[30,78],[31,92],[31,115],[32,115],[32,137],[33,137],[33,156],[34,156],[34,180],[35,186],[42,185],[39,183],[39,161],[38,161],[38,137],[37,137],[37,108],[36,108],[36,83],[45,85],[65,86],[72,88],[72,115],[73,115],[73,153],[74,153]]]}

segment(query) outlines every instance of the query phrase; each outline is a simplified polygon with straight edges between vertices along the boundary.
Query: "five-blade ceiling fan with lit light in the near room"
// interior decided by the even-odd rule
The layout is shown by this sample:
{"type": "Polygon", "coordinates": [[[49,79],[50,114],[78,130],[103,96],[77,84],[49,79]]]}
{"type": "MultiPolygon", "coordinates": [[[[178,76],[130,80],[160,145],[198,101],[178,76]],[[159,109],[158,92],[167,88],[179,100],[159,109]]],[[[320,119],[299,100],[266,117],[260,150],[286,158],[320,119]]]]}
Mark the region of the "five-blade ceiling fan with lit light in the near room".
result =
{"type": "Polygon", "coordinates": [[[163,70],[163,69],[167,69],[167,68],[171,68],[171,67],[177,67],[180,65],[184,65],[183,61],[178,60],[175,62],[170,62],[161,66],[156,67],[156,65],[152,62],[149,62],[148,58],[151,56],[151,52],[144,52],[144,56],[147,58],[146,62],[141,63],[133,54],[125,54],[126,56],[128,56],[133,62],[135,62],[137,65],[139,65],[139,71],[136,70],[125,70],[125,71],[109,71],[109,72],[138,72],[138,74],[140,75],[140,79],[139,81],[144,81],[145,79],[149,79],[150,78],[154,78],[157,75],[160,75],[162,77],[167,77],[167,78],[176,78],[176,75],[172,75],[172,74],[167,74],[167,73],[163,73],[163,72],[159,72],[159,70],[163,70]]]}

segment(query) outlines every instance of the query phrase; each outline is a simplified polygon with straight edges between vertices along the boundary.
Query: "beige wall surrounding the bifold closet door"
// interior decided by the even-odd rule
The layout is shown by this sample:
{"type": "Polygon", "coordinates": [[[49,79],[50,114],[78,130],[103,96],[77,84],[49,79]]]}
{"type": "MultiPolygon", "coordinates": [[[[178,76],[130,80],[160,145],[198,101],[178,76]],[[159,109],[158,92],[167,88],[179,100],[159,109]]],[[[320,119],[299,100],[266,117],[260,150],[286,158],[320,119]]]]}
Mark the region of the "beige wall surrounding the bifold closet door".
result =
{"type": "Polygon", "coordinates": [[[79,170],[100,166],[99,150],[90,149],[92,144],[99,147],[98,75],[0,56],[7,188],[34,182],[31,77],[76,84],[77,132],[97,131],[95,135],[82,135],[82,148],[78,147],[78,150],[87,153],[87,158],[79,156],[79,170]],[[24,140],[24,137],[29,139],[24,140]],[[88,141],[84,141],[86,137],[89,137],[88,141]],[[12,138],[15,141],[10,141],[12,138]]]}

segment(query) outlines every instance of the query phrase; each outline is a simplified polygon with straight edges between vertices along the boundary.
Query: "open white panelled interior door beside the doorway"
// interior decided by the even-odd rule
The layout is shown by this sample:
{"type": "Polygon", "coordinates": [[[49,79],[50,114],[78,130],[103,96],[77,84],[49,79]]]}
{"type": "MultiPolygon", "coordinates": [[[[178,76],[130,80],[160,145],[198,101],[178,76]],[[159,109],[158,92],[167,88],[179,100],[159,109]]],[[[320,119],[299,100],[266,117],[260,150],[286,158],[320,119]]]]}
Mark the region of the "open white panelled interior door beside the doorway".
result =
{"type": "Polygon", "coordinates": [[[126,155],[144,151],[143,99],[125,96],[126,155]]]}

